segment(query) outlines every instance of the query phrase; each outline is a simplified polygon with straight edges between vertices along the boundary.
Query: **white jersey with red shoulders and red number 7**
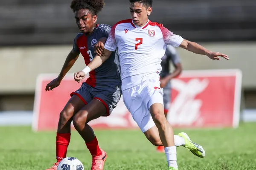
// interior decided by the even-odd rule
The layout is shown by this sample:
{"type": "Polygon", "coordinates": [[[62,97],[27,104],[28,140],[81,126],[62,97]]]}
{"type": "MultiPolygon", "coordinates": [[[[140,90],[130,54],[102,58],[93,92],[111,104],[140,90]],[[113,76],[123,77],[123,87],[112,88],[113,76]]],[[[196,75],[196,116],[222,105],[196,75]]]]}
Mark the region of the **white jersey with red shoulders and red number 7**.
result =
{"type": "Polygon", "coordinates": [[[131,19],[116,23],[105,43],[105,49],[118,49],[122,91],[140,84],[148,74],[160,73],[161,57],[165,54],[166,45],[178,47],[183,40],[162,24],[150,20],[143,27],[135,26],[131,19]]]}

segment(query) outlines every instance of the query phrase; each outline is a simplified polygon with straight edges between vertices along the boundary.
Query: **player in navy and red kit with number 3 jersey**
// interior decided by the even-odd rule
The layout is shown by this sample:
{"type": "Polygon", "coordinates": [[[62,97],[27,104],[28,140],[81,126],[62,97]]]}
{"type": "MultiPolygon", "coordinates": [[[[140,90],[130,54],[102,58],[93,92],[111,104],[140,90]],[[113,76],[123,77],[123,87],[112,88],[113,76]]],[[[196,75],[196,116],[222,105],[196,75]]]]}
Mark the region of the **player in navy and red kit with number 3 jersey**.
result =
{"type": "MultiPolygon", "coordinates": [[[[102,37],[108,37],[111,26],[97,24],[97,14],[104,6],[103,0],[72,0],[71,9],[75,13],[76,24],[81,31],[73,44],[73,49],[61,69],[58,78],[52,80],[46,91],[58,85],[74,65],[79,54],[88,65],[95,57],[95,45],[102,37]]],[[[116,54],[112,53],[107,62],[90,72],[90,77],[81,88],[71,93],[71,98],[60,113],[56,135],[57,162],[48,170],[57,170],[58,164],[67,156],[70,143],[71,122],[92,155],[91,170],[103,170],[107,153],[99,147],[93,129],[87,124],[100,116],[109,116],[121,97],[121,78],[117,68],[116,54]]],[[[78,81],[81,82],[81,81],[78,81]]]]}

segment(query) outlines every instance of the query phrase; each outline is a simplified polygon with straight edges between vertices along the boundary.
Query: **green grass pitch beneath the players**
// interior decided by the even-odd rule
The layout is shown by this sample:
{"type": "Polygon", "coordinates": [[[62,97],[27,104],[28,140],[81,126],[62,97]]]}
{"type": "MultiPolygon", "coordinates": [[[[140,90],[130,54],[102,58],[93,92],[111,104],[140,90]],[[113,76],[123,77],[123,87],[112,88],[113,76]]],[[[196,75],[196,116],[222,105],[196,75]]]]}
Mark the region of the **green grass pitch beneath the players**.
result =
{"type": "MultiPolygon", "coordinates": [[[[181,130],[175,130],[177,134],[181,130]]],[[[183,130],[204,146],[206,157],[177,148],[179,170],[256,170],[256,123],[238,129],[183,130]]],[[[166,156],[157,153],[139,130],[96,131],[108,153],[104,170],[166,170],[166,156]]],[[[91,156],[76,131],[67,156],[90,170],[91,156]]],[[[45,170],[55,162],[55,132],[33,133],[31,127],[0,127],[0,170],[45,170]]]]}

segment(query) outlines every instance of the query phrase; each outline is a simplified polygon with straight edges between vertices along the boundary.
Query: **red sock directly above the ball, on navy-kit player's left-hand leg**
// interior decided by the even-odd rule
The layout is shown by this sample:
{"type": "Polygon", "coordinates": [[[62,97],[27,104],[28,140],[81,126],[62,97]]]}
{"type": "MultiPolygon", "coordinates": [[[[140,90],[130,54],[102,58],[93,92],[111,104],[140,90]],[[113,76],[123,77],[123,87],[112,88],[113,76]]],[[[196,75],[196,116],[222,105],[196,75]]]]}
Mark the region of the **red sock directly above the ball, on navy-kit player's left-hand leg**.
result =
{"type": "Polygon", "coordinates": [[[67,156],[67,147],[70,142],[71,133],[57,133],[56,136],[56,159],[61,161],[67,156]]]}

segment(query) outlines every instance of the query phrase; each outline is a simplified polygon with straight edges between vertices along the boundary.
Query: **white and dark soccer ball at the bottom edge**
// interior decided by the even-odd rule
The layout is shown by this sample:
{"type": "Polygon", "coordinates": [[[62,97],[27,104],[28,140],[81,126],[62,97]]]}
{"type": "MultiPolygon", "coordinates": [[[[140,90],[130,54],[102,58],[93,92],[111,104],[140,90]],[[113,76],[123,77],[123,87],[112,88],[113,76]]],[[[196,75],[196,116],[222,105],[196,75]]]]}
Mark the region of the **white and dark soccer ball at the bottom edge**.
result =
{"type": "Polygon", "coordinates": [[[76,158],[67,157],[61,160],[57,170],[84,170],[84,165],[76,158]]]}

